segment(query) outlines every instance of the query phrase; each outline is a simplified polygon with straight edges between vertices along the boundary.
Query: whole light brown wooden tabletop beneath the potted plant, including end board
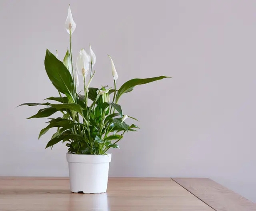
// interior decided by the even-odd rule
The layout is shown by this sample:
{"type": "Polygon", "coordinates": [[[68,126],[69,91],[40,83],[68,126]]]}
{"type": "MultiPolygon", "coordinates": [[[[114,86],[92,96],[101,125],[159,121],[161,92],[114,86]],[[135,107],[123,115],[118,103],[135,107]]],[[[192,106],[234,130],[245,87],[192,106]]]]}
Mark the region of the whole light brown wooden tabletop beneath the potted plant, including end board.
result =
{"type": "Polygon", "coordinates": [[[0,177],[0,211],[256,211],[210,179],[110,178],[104,194],[74,194],[68,178],[0,177]]]}

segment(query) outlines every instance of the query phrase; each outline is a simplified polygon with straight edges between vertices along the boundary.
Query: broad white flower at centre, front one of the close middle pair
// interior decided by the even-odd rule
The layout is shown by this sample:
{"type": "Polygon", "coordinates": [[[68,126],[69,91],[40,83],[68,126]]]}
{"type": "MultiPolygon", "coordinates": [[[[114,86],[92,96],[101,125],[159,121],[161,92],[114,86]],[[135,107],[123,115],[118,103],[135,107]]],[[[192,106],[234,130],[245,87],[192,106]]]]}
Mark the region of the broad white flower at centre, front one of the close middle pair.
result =
{"type": "Polygon", "coordinates": [[[84,49],[81,49],[79,52],[79,55],[76,60],[76,68],[78,71],[78,74],[83,75],[86,77],[88,75],[89,70],[89,57],[84,49]]]}

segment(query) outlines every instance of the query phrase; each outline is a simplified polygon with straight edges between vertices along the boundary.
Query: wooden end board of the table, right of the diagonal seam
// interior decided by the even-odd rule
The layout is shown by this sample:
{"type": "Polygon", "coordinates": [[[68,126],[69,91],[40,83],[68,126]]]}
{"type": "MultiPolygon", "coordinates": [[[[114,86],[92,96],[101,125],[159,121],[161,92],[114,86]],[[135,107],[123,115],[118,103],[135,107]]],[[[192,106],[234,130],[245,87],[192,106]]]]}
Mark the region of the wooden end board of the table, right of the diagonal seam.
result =
{"type": "Polygon", "coordinates": [[[216,211],[256,211],[256,204],[207,178],[172,178],[216,211]]]}

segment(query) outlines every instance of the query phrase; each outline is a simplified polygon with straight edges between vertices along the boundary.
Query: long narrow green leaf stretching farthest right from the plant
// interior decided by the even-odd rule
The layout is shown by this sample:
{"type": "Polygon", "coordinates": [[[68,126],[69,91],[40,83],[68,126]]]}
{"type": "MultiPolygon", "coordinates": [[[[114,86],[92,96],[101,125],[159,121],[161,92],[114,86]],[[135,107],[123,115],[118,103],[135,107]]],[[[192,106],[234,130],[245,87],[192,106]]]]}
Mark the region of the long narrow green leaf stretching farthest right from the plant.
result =
{"type": "Polygon", "coordinates": [[[122,94],[124,94],[126,92],[131,92],[133,90],[133,88],[137,85],[148,84],[148,83],[151,83],[153,81],[161,80],[161,79],[164,79],[164,78],[171,78],[171,77],[159,76],[159,77],[144,78],[144,79],[140,79],[140,78],[131,79],[131,80],[125,82],[120,87],[120,89],[118,90],[118,92],[116,94],[115,102],[118,102],[118,99],[121,97],[122,94]]]}

